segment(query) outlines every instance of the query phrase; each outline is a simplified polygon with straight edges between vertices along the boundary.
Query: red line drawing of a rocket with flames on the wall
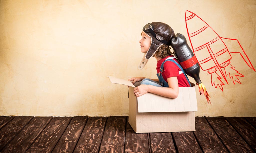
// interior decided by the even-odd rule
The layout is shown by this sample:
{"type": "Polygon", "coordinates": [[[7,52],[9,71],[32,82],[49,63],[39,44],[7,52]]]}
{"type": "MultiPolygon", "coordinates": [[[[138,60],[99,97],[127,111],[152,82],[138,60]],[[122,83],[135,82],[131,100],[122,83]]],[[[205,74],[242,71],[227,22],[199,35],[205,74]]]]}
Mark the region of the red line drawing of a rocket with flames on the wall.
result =
{"type": "Polygon", "coordinates": [[[231,65],[231,53],[239,53],[246,64],[255,71],[251,61],[237,39],[220,37],[204,20],[196,14],[186,11],[186,28],[196,59],[203,71],[211,74],[211,84],[223,91],[228,79],[240,83],[238,77],[244,77],[231,65]],[[234,51],[233,46],[239,50],[234,51]],[[231,75],[233,74],[233,75],[231,75]],[[217,79],[216,79],[217,78],[217,79]]]}

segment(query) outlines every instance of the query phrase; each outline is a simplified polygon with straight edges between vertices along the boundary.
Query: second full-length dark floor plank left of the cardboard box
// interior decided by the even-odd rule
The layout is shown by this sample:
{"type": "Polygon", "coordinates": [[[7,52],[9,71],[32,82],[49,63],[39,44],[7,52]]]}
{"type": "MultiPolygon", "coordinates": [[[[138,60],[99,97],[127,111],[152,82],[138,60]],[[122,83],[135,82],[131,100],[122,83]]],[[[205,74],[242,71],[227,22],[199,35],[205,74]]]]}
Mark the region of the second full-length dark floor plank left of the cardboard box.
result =
{"type": "Polygon", "coordinates": [[[107,117],[89,117],[74,153],[98,152],[107,117]]]}

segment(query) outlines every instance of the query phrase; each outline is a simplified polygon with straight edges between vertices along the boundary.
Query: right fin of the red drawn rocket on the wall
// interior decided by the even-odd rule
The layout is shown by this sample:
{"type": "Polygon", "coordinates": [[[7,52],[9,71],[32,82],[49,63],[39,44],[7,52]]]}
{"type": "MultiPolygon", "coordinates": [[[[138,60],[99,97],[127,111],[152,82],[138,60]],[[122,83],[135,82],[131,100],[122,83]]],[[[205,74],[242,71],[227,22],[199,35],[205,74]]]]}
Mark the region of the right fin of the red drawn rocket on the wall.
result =
{"type": "Polygon", "coordinates": [[[223,38],[220,37],[221,40],[225,43],[226,47],[228,48],[230,53],[239,53],[243,60],[246,62],[246,64],[255,71],[254,67],[252,66],[251,61],[249,60],[247,54],[243,50],[241,44],[237,39],[229,39],[229,38],[223,38]]]}

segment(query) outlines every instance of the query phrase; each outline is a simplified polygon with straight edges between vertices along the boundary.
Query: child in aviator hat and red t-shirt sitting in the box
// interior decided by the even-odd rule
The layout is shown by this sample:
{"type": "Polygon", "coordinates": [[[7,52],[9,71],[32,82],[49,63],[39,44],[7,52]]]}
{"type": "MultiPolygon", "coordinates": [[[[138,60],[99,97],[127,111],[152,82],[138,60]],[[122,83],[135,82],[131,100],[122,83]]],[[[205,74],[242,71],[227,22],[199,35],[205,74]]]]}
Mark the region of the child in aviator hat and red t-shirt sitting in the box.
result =
{"type": "Polygon", "coordinates": [[[171,40],[174,38],[173,29],[161,22],[152,22],[143,27],[142,38],[139,41],[141,52],[145,53],[139,68],[143,69],[152,56],[157,60],[156,70],[158,79],[135,77],[129,79],[134,84],[142,81],[134,88],[134,95],[139,97],[145,93],[154,93],[169,98],[177,98],[179,87],[189,87],[189,80],[178,61],[170,51],[171,40]],[[155,81],[159,81],[157,83],[155,81]],[[163,88],[166,87],[166,88],[163,88]]]}

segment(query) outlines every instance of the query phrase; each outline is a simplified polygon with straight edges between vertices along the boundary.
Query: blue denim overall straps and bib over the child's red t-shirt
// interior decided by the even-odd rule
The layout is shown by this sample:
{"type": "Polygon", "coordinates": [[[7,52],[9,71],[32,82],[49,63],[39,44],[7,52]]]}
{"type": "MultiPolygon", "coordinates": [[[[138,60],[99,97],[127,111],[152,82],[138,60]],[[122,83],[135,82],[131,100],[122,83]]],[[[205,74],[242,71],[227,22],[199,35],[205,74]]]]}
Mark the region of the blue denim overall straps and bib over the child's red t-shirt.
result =
{"type": "Polygon", "coordinates": [[[160,67],[160,72],[156,74],[157,77],[158,77],[158,79],[159,79],[159,83],[160,83],[163,87],[169,87],[168,83],[164,80],[164,78],[163,78],[163,76],[162,76],[162,72],[163,72],[163,70],[164,70],[164,63],[165,63],[166,61],[172,61],[172,62],[174,62],[174,63],[181,69],[181,71],[179,71],[179,75],[182,74],[182,73],[184,73],[184,75],[185,75],[185,77],[186,77],[186,79],[187,79],[189,85],[191,86],[191,84],[190,84],[190,82],[189,82],[189,80],[188,80],[188,77],[187,77],[186,73],[184,72],[183,68],[180,66],[179,63],[177,63],[175,60],[173,60],[174,58],[175,58],[175,57],[169,57],[169,58],[167,58],[165,61],[163,61],[162,65],[161,65],[161,67],[160,67]]]}

